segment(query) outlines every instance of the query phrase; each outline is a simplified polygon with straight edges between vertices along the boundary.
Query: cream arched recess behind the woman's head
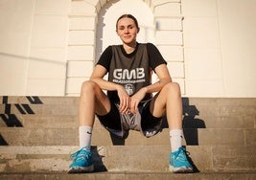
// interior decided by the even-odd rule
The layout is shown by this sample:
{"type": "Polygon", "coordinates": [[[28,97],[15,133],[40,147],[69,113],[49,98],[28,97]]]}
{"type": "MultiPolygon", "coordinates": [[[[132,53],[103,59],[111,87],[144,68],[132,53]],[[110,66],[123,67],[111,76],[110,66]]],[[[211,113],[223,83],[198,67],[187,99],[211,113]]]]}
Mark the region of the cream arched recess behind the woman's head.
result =
{"type": "Polygon", "coordinates": [[[115,32],[115,25],[118,17],[124,13],[130,13],[138,20],[140,32],[137,41],[154,43],[153,14],[146,3],[138,0],[110,1],[98,14],[95,61],[107,46],[122,43],[115,32]]]}

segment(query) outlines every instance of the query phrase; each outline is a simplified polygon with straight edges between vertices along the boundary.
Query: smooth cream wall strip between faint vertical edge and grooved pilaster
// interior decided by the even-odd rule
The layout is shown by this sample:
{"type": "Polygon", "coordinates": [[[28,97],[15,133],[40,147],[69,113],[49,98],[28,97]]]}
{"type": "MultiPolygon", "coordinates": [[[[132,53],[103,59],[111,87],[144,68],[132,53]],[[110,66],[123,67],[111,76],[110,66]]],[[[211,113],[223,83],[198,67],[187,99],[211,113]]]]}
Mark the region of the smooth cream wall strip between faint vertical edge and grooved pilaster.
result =
{"type": "Polygon", "coordinates": [[[28,95],[65,94],[69,7],[69,0],[35,1],[28,95]]]}

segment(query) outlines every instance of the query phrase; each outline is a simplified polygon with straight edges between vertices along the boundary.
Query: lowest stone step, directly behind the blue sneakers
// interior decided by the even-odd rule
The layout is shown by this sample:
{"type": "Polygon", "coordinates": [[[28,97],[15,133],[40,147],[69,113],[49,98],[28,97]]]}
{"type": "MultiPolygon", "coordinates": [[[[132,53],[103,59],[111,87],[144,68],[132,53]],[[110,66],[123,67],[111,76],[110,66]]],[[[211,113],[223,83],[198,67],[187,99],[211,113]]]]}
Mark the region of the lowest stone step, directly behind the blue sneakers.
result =
{"type": "MultiPolygon", "coordinates": [[[[195,169],[256,171],[256,146],[186,146],[195,169]]],[[[2,146],[0,172],[67,171],[78,146],[2,146]]],[[[96,171],[168,172],[170,146],[92,146],[96,171]]]]}

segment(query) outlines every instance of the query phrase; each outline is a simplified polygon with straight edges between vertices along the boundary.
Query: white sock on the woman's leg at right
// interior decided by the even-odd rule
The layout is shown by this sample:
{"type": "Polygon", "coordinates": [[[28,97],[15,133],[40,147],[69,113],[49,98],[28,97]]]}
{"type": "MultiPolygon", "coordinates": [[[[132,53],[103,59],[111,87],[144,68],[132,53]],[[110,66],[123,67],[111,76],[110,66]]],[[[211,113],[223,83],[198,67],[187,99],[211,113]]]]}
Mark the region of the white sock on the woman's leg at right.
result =
{"type": "Polygon", "coordinates": [[[172,152],[175,152],[180,146],[182,146],[183,131],[181,129],[173,129],[170,131],[170,142],[172,152]]]}

